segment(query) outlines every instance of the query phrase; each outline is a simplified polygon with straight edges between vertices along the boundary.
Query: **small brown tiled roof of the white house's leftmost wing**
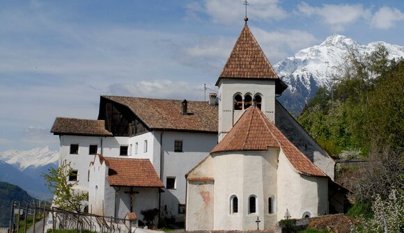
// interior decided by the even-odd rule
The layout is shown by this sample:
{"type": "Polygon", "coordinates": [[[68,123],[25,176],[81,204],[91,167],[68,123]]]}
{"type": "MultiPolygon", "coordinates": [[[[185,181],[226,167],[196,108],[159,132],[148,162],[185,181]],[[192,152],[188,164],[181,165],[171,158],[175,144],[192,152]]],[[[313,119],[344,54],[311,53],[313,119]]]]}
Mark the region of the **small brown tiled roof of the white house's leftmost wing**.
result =
{"type": "Polygon", "coordinates": [[[77,118],[56,118],[51,133],[55,135],[112,136],[111,132],[105,129],[104,120],[77,118]]]}

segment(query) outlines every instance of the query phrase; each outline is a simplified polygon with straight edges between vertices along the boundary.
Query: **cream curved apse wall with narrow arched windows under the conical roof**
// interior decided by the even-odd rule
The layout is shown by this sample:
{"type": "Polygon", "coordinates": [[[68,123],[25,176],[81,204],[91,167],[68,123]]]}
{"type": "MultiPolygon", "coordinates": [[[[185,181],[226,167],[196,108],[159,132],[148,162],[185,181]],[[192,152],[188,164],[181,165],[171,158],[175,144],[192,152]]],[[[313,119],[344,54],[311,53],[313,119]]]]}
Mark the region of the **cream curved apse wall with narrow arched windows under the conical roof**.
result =
{"type": "Polygon", "coordinates": [[[277,200],[277,151],[226,152],[215,154],[214,230],[254,230],[275,225],[268,214],[267,199],[277,200]],[[231,196],[238,197],[238,213],[230,213],[231,196]],[[249,214],[249,197],[256,196],[256,213],[249,214]]]}

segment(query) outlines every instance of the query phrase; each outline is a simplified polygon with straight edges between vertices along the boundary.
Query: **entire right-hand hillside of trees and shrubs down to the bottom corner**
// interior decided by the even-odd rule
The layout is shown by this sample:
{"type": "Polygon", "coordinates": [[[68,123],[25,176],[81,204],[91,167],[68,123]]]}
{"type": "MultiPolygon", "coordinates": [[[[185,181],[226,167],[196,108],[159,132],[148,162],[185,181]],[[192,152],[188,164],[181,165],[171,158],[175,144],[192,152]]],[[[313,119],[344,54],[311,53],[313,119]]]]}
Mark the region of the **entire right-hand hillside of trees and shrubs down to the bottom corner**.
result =
{"type": "Polygon", "coordinates": [[[404,60],[387,51],[352,50],[331,90],[320,88],[297,118],[318,143],[342,161],[336,182],[348,188],[359,220],[355,232],[402,232],[404,225],[404,60]]]}

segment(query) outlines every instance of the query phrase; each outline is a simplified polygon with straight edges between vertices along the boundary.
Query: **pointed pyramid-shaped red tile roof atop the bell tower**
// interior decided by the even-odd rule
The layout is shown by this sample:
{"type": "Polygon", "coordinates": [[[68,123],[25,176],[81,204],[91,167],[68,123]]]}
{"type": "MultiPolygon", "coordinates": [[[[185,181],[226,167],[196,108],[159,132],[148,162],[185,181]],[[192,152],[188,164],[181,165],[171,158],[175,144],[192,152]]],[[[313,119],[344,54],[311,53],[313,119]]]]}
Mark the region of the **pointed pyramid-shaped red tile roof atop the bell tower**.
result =
{"type": "Polygon", "coordinates": [[[220,79],[279,79],[247,24],[244,25],[220,79]]]}

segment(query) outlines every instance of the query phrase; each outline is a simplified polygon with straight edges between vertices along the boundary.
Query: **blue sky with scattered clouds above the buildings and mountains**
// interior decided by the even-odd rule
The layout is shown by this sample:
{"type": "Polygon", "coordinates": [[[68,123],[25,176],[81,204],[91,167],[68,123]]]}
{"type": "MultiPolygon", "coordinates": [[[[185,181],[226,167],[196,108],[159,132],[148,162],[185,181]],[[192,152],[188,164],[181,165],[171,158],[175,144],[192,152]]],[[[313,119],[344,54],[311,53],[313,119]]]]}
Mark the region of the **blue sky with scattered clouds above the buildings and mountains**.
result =
{"type": "MultiPolygon", "coordinates": [[[[404,1],[250,0],[272,64],[332,33],[404,45],[404,1]]],[[[244,24],[242,0],[0,1],[0,152],[49,145],[100,95],[203,100],[244,24]]]]}

